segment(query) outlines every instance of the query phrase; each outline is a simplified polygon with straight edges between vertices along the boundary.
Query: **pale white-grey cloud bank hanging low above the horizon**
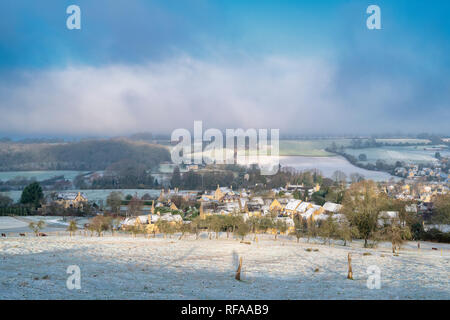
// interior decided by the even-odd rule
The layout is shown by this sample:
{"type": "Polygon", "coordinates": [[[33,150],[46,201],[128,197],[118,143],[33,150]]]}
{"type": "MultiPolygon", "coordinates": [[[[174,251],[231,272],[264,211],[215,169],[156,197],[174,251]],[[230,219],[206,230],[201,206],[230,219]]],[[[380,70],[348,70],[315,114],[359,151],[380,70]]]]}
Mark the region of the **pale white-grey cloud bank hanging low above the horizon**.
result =
{"type": "Polygon", "coordinates": [[[1,131],[170,133],[191,129],[194,120],[205,128],[305,135],[446,130],[449,99],[432,99],[433,106],[410,112],[409,106],[426,101],[420,83],[388,75],[348,81],[342,68],[308,58],[219,63],[181,56],[141,65],[16,71],[0,80],[1,131]]]}

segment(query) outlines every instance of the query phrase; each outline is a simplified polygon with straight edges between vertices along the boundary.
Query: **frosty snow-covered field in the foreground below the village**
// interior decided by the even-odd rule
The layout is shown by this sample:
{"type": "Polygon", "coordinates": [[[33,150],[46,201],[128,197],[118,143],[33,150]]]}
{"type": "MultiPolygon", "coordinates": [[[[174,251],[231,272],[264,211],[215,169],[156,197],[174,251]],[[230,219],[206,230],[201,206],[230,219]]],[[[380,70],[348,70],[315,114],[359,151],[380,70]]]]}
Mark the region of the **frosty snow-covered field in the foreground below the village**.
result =
{"type": "Polygon", "coordinates": [[[418,250],[411,242],[393,256],[389,244],[205,237],[1,238],[0,299],[450,299],[449,245],[421,243],[418,250]],[[348,252],[354,280],[346,279],[348,252]],[[238,257],[243,281],[234,279],[238,257]],[[69,265],[80,267],[80,290],[67,289],[69,265]],[[381,289],[367,287],[371,265],[381,270],[381,289]]]}

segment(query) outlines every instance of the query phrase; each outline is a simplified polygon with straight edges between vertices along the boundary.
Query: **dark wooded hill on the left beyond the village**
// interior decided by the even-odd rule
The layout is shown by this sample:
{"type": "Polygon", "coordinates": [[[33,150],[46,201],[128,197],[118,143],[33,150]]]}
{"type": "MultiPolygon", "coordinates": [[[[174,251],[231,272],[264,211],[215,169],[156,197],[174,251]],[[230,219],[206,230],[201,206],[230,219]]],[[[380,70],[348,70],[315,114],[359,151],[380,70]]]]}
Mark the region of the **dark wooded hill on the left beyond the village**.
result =
{"type": "Polygon", "coordinates": [[[170,160],[167,148],[126,139],[72,143],[0,143],[0,171],[105,170],[122,160],[148,168],[170,160]]]}

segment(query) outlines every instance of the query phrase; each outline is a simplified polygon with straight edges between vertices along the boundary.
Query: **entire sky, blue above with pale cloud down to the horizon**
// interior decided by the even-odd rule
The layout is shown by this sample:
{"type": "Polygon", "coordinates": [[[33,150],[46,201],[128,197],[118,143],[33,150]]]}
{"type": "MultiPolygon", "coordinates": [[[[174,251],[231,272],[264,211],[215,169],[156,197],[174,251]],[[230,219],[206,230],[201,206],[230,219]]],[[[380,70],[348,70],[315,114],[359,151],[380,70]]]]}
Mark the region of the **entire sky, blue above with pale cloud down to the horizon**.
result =
{"type": "Polygon", "coordinates": [[[4,0],[3,136],[450,134],[448,0],[4,0]],[[69,5],[81,29],[69,30],[69,5]],[[381,29],[369,30],[369,5],[381,29]]]}

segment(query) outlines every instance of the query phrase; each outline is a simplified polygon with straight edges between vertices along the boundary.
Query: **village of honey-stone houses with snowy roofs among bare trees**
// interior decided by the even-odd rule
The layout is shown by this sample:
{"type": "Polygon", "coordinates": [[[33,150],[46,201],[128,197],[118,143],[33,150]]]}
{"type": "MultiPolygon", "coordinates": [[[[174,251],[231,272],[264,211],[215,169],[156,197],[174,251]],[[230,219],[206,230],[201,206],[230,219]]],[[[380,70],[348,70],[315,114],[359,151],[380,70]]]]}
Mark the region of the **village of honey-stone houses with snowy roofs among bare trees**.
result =
{"type": "MultiPolygon", "coordinates": [[[[363,181],[354,185],[373,188],[376,194],[383,195],[384,207],[380,206],[379,212],[375,213],[380,228],[386,222],[395,221],[404,227],[408,224],[409,232],[414,229],[416,234],[410,234],[404,240],[419,239],[417,228],[422,232],[430,229],[449,231],[448,220],[438,221],[433,204],[438,198],[447,200],[450,195],[448,184],[409,180],[409,183],[385,182],[369,186],[367,183],[370,182],[364,184],[363,181]]],[[[347,228],[350,225],[356,228],[356,223],[349,221],[349,211],[357,211],[358,208],[344,210],[343,202],[344,194],[352,185],[334,183],[332,186],[321,186],[316,183],[305,186],[287,183],[285,187],[270,190],[233,190],[232,186],[217,185],[212,191],[179,190],[175,187],[161,189],[157,198],[148,194],[124,197],[120,192],[113,191],[105,206],[92,203],[83,192],[60,192],[40,211],[46,212],[56,206],[71,213],[64,216],[65,221],[70,221],[89,207],[94,217],[88,223],[73,228],[84,228],[85,232],[90,230],[98,235],[107,230],[148,235],[179,233],[181,236],[189,232],[207,231],[209,236],[220,232],[226,232],[229,236],[230,232],[236,232],[242,239],[249,233],[255,234],[253,239],[257,233],[265,233],[275,237],[278,234],[326,235],[351,240],[353,237],[347,234],[347,228]],[[331,201],[333,197],[335,201],[331,201]],[[330,228],[336,229],[334,234],[328,234],[330,228]]],[[[360,237],[356,230],[353,233],[354,238],[360,237]]]]}

